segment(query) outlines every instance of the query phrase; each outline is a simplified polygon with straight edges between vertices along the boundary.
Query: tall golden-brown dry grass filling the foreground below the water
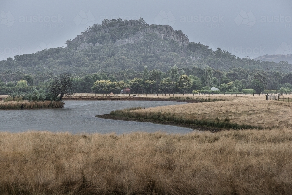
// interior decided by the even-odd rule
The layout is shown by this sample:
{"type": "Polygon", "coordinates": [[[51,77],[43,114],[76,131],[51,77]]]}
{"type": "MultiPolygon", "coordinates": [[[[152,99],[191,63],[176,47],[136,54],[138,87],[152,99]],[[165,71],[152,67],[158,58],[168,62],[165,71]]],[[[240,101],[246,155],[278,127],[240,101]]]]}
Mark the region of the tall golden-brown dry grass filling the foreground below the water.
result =
{"type": "Polygon", "coordinates": [[[0,133],[0,194],[291,194],[292,130],[0,133]]]}

